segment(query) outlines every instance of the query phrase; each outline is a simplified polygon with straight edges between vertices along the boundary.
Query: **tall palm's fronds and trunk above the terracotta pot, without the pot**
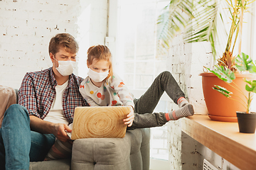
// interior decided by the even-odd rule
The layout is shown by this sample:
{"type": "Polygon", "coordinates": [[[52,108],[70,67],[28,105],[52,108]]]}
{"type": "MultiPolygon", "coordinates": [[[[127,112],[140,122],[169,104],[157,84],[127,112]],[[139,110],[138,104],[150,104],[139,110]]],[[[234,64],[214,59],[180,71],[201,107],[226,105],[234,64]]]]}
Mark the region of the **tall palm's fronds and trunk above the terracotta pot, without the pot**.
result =
{"type": "MultiPolygon", "coordinates": [[[[227,33],[227,44],[223,55],[217,60],[217,65],[235,72],[234,49],[239,39],[238,54],[240,54],[243,15],[249,11],[248,5],[255,0],[225,1],[228,4],[226,9],[230,13],[231,22],[230,30],[227,33]]],[[[171,40],[180,30],[183,30],[184,42],[208,41],[212,47],[214,59],[217,58],[215,50],[217,32],[223,31],[217,30],[217,16],[223,22],[223,16],[218,10],[219,5],[220,1],[218,0],[171,0],[158,19],[158,23],[162,25],[159,31],[158,50],[160,52],[168,50],[171,40]]]]}

